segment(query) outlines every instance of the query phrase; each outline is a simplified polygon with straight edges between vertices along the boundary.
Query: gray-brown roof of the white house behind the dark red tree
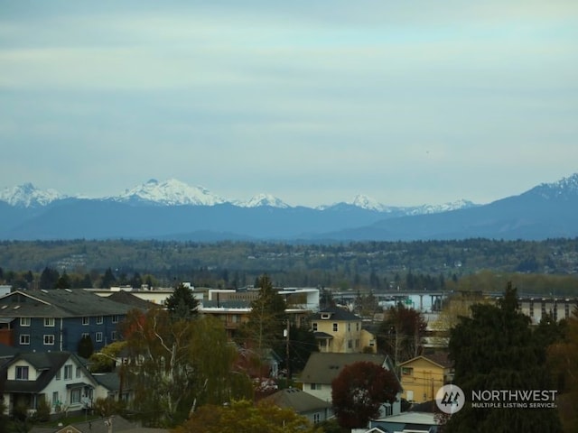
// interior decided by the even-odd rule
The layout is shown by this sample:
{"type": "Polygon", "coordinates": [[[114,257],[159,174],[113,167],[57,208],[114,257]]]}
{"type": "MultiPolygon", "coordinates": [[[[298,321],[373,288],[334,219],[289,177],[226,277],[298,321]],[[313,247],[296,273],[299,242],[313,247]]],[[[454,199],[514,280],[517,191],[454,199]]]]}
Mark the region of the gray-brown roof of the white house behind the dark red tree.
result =
{"type": "Polygon", "coordinates": [[[379,354],[328,354],[313,352],[303,372],[301,382],[305,383],[331,383],[346,365],[369,362],[378,365],[386,363],[387,356],[379,354]]]}

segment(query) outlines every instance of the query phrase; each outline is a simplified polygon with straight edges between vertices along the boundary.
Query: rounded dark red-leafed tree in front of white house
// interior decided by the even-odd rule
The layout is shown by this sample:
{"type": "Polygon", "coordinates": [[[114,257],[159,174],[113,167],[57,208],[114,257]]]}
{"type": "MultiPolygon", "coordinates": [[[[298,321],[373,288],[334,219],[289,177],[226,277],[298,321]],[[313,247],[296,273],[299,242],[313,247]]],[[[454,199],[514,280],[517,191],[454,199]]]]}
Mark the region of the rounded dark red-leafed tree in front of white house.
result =
{"type": "Polygon", "coordinates": [[[396,375],[370,362],[346,365],[331,382],[333,410],[343,428],[363,428],[379,415],[383,403],[393,403],[401,386],[396,375]]]}

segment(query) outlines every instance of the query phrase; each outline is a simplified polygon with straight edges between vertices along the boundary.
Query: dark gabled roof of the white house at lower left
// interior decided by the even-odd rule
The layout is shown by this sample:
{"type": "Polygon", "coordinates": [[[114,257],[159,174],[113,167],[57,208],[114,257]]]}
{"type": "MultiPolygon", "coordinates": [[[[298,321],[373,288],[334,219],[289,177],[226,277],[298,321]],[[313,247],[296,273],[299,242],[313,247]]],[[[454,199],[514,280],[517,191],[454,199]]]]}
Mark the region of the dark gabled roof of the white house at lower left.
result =
{"type": "Polygon", "coordinates": [[[46,386],[51,382],[52,378],[55,376],[56,372],[61,369],[70,358],[76,359],[79,367],[83,369],[84,375],[88,378],[89,382],[96,382],[91,379],[91,375],[84,365],[79,361],[79,358],[70,352],[28,352],[16,355],[10,362],[2,366],[2,375],[5,377],[5,371],[8,367],[19,361],[25,361],[31,364],[34,369],[41,372],[36,380],[29,381],[15,381],[6,380],[4,382],[5,392],[27,392],[27,393],[37,393],[42,392],[46,386]]]}

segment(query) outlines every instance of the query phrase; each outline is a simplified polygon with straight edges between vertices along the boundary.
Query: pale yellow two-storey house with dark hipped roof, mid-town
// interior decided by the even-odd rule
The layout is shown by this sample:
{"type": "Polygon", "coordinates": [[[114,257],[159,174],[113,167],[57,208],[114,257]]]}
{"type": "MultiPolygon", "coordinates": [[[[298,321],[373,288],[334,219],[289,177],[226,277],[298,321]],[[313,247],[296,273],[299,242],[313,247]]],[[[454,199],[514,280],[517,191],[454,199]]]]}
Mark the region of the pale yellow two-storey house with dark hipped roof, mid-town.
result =
{"type": "Polygon", "coordinates": [[[376,337],[363,329],[363,321],[348,309],[331,307],[312,315],[311,326],[319,351],[325,353],[376,353],[376,337]]]}

